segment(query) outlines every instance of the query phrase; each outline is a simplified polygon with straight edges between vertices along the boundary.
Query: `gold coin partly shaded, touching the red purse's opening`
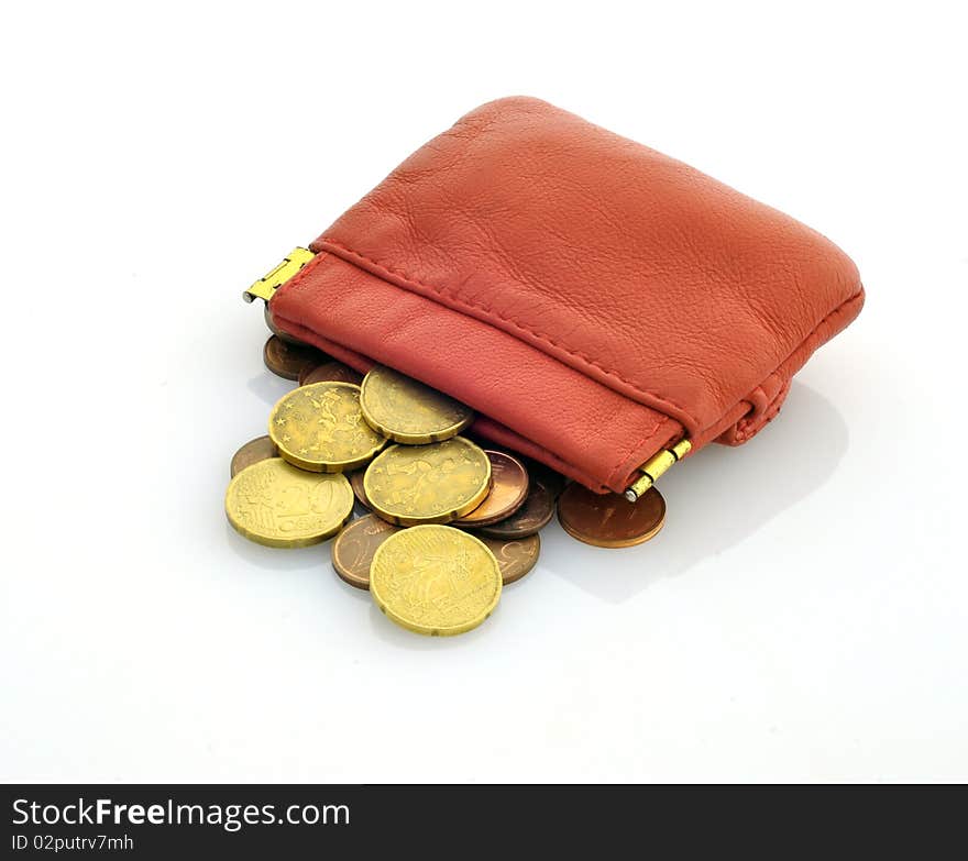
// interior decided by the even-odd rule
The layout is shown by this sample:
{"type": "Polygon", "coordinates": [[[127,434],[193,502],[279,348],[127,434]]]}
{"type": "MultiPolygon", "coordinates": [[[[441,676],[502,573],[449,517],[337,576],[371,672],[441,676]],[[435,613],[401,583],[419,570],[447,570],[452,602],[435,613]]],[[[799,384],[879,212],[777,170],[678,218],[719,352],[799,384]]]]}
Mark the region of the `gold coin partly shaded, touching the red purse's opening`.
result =
{"type": "Polygon", "coordinates": [[[449,440],[474,418],[470,407],[382,365],[361,388],[360,407],[370,427],[407,445],[449,440]]]}

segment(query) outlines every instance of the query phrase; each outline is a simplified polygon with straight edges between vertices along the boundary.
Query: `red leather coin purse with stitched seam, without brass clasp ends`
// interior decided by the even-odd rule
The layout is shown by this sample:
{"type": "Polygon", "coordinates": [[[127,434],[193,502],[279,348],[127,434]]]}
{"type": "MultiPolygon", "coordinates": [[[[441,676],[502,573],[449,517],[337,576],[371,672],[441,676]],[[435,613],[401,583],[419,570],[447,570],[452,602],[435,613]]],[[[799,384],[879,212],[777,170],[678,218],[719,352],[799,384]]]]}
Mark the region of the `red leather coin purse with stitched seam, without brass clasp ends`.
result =
{"type": "Polygon", "coordinates": [[[750,439],[864,302],[815,231],[522,97],[466,114],[311,249],[278,325],[464,400],[597,490],[684,434],[750,439]]]}

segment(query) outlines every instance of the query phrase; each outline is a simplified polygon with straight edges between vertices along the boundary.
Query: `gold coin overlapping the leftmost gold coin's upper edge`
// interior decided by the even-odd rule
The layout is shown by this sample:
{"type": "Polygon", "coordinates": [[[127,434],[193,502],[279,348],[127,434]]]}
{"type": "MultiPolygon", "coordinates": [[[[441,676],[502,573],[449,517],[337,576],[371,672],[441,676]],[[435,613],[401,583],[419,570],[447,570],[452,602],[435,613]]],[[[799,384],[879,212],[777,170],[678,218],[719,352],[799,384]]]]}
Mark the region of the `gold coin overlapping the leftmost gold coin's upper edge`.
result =
{"type": "Polygon", "coordinates": [[[301,470],[341,473],[367,463],[385,444],[360,412],[360,387],[314,383],[283,396],[268,418],[279,455],[301,470]]]}

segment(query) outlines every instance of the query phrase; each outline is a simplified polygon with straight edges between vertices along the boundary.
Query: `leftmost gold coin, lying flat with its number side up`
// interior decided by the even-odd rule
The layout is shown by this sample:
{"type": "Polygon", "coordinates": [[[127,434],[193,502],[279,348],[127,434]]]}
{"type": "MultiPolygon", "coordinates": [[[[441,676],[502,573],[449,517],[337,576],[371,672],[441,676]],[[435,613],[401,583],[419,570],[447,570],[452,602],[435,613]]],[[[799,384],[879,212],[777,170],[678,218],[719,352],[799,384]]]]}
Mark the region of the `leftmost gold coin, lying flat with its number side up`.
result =
{"type": "Polygon", "coordinates": [[[353,510],[353,492],[342,475],[319,475],[270,457],[245,467],[226,493],[226,515],[245,538],[274,548],[318,544],[353,510]]]}

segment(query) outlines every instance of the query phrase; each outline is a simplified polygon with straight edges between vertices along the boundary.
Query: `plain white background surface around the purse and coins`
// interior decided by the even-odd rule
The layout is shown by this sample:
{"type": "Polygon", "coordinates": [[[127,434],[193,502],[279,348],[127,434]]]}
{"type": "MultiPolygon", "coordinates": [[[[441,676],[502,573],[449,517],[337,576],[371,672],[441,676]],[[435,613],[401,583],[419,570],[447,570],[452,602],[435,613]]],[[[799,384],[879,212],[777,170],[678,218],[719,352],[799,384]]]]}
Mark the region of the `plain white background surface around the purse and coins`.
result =
{"type": "Polygon", "coordinates": [[[0,777],[968,779],[960,4],[0,13],[0,777]],[[479,103],[789,211],[868,305],[624,551],[556,525],[453,639],[226,523],[289,384],[240,290],[479,103]]]}

